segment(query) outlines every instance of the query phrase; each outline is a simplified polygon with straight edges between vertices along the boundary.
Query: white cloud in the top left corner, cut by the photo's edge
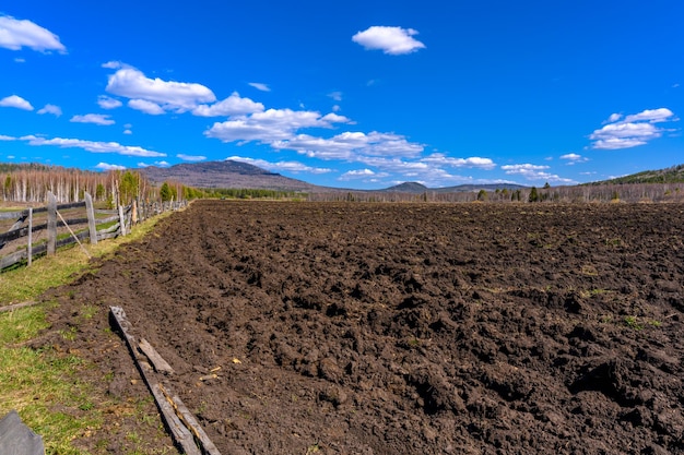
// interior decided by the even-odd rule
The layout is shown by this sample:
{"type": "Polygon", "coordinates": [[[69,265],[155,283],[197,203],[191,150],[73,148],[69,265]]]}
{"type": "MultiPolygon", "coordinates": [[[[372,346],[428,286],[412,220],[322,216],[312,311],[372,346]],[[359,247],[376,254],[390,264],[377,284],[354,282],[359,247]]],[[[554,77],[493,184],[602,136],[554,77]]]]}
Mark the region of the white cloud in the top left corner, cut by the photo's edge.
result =
{"type": "Polygon", "coordinates": [[[67,48],[59,41],[59,36],[47,28],[26,20],[16,20],[9,15],[0,16],[0,47],[20,50],[28,47],[33,50],[57,50],[61,53],[67,48]]]}

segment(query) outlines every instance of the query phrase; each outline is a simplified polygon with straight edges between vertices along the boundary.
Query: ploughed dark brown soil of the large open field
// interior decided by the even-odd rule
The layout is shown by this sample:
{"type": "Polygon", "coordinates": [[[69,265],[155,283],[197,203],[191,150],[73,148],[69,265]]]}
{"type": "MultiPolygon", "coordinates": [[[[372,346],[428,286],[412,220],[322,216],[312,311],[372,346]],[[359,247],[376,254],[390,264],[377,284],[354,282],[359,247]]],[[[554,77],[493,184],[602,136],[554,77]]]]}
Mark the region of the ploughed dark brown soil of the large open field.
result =
{"type": "MultiPolygon", "coordinates": [[[[94,360],[103,397],[144,397],[107,331],[122,307],[224,455],[682,454],[683,220],[200,201],[47,296],[76,336],[43,342],[94,360]]],[[[134,423],[107,416],[78,444],[126,452],[134,423]]]]}

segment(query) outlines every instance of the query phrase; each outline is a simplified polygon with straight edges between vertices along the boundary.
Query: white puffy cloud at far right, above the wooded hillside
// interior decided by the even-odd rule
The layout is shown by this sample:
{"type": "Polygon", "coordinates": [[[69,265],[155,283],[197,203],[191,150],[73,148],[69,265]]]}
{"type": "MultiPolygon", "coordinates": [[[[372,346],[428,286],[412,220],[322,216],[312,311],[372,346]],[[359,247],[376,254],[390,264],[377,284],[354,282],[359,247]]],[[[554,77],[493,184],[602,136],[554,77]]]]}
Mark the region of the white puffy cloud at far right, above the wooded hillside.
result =
{"type": "Polygon", "coordinates": [[[622,116],[613,113],[608,124],[594,130],[589,139],[591,147],[597,149],[622,149],[647,144],[662,136],[667,131],[656,123],[676,121],[674,113],[668,108],[647,109],[639,113],[622,116]]]}

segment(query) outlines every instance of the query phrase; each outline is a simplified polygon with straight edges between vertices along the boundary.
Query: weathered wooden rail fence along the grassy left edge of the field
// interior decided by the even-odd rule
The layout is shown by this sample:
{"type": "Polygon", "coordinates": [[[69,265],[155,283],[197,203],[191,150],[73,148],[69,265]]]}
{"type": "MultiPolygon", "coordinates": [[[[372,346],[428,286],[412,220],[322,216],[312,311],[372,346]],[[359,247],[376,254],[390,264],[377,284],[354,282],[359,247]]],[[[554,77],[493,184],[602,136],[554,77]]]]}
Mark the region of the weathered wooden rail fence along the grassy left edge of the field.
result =
{"type": "Polygon", "coordinates": [[[45,207],[0,213],[0,221],[14,220],[7,232],[0,234],[0,271],[22,261],[31,265],[36,256],[55,254],[61,247],[81,243],[86,239],[95,244],[99,240],[126,236],[131,226],[186,205],[185,201],[150,204],[133,201],[127,206],[119,205],[117,209],[96,209],[89,193],[85,193],[83,202],[62,205],[57,205],[55,195],[48,193],[45,207]],[[71,217],[64,218],[62,213],[71,217]],[[58,238],[59,232],[61,238],[58,238]],[[2,255],[2,250],[9,251],[12,246],[16,251],[2,255]]]}

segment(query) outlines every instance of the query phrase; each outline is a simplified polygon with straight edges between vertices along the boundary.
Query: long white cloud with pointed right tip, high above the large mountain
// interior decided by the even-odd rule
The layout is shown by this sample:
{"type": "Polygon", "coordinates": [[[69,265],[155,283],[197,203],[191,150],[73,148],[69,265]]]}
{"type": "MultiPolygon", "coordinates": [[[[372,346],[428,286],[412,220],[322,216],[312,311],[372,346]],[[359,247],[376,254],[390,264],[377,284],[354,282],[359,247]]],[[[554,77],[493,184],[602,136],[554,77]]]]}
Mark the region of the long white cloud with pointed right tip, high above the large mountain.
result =
{"type": "Polygon", "coordinates": [[[249,117],[239,117],[225,122],[216,122],[204,134],[223,142],[257,141],[271,143],[294,136],[303,128],[332,128],[332,123],[350,122],[346,117],[308,110],[268,109],[249,117]]]}

